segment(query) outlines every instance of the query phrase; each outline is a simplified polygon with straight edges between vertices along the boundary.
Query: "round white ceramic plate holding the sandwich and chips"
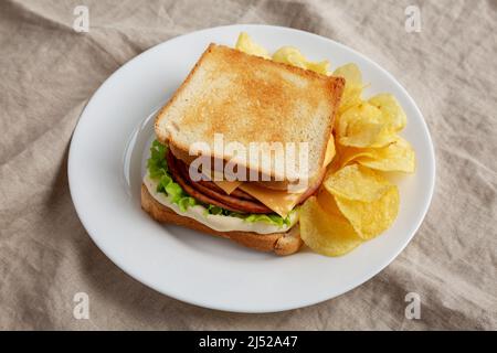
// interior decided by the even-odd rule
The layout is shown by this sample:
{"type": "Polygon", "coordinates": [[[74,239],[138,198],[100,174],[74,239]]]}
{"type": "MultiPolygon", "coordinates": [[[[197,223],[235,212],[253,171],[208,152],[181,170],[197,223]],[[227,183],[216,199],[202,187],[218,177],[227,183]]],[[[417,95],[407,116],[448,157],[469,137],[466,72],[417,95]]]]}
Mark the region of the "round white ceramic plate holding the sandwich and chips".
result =
{"type": "Polygon", "coordinates": [[[197,306],[237,312],[300,308],[373,277],[411,240],[429,208],[435,162],[429,130],[405,89],[379,65],[331,40],[286,28],[230,25],[182,35],[116,71],[83,111],[71,143],[68,179],[77,214],[96,245],[142,284],[197,306]],[[140,210],[139,190],[152,117],[210,42],[233,46],[247,32],[271,51],[294,45],[334,67],[353,62],[371,88],[394,94],[409,117],[403,136],[416,151],[414,175],[400,179],[399,216],[380,237],[339,258],[302,250],[260,254],[232,242],[162,226],[140,210]]]}

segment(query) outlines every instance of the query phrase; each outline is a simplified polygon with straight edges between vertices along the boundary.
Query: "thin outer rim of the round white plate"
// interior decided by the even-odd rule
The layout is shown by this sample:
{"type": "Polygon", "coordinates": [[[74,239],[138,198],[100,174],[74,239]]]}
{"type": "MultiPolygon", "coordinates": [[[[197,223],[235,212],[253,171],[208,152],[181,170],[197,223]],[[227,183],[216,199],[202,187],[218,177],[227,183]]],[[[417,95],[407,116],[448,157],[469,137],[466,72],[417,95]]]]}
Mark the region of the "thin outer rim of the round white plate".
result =
{"type": "Polygon", "coordinates": [[[417,231],[420,228],[420,226],[422,225],[424,218],[426,217],[427,211],[430,210],[430,206],[432,204],[432,200],[433,200],[433,194],[434,194],[434,189],[435,189],[435,183],[436,183],[436,158],[435,158],[435,149],[434,149],[434,145],[433,145],[433,139],[432,136],[430,133],[430,128],[426,124],[426,120],[421,111],[421,109],[419,108],[417,104],[415,103],[415,100],[413,99],[413,97],[409,94],[409,92],[403,87],[403,85],[387,69],[384,69],[381,65],[379,65],[378,63],[376,63],[373,60],[369,58],[368,56],[366,56],[364,54],[361,54],[360,52],[356,51],[355,49],[347,46],[340,42],[337,42],[335,40],[331,40],[329,38],[326,36],[321,36],[319,34],[316,33],[311,33],[311,32],[307,32],[307,31],[303,31],[303,30],[298,30],[298,29],[293,29],[293,28],[286,28],[286,26],[279,26],[279,25],[271,25],[271,24],[228,24],[228,25],[219,25],[219,26],[212,26],[212,28],[205,28],[205,29],[201,29],[198,31],[192,31],[192,32],[188,32],[181,35],[177,35],[173,36],[171,39],[168,39],[161,43],[158,43],[151,47],[149,47],[148,50],[139,53],[138,55],[131,57],[130,60],[128,60],[126,63],[124,63],[123,65],[120,65],[118,68],[116,68],[107,78],[105,78],[105,81],[101,84],[101,86],[92,94],[91,98],[86,101],[84,108],[81,111],[81,115],[77,119],[76,126],[73,130],[72,133],[72,138],[71,138],[71,146],[70,146],[70,150],[68,150],[68,157],[67,157],[67,179],[68,179],[68,188],[70,188],[70,194],[71,194],[71,199],[73,201],[74,204],[74,208],[76,211],[76,214],[82,223],[82,225],[84,226],[86,233],[88,234],[89,238],[92,239],[92,242],[98,247],[98,249],[106,256],[108,257],[119,269],[121,269],[126,275],[130,276],[131,278],[134,278],[135,280],[144,284],[145,286],[154,289],[155,291],[168,296],[170,298],[173,298],[176,300],[180,300],[182,302],[187,302],[189,304],[193,304],[200,308],[208,308],[208,309],[213,309],[213,310],[219,310],[219,311],[226,311],[226,312],[240,312],[240,313],[271,313],[271,312],[282,312],[282,311],[287,311],[287,310],[293,310],[293,309],[298,309],[298,308],[306,308],[306,307],[310,307],[320,302],[324,302],[326,300],[330,300],[334,298],[337,298],[366,282],[368,282],[369,280],[371,280],[373,277],[376,277],[378,274],[380,274],[387,266],[389,266],[399,255],[400,253],[402,253],[405,247],[412,242],[413,237],[417,234],[417,231]],[[303,299],[302,303],[288,303],[288,304],[281,304],[278,308],[274,308],[274,310],[254,310],[254,309],[240,309],[240,308],[233,308],[233,306],[219,306],[219,304],[209,304],[202,300],[192,300],[191,298],[186,298],[181,295],[178,293],[173,293],[167,290],[163,290],[163,288],[158,288],[158,286],[156,286],[155,284],[150,282],[148,279],[146,278],[140,278],[138,276],[136,276],[134,274],[134,271],[128,268],[128,266],[126,264],[123,264],[123,261],[120,261],[119,259],[117,259],[114,255],[109,254],[108,252],[105,250],[105,247],[99,243],[98,237],[93,235],[93,232],[95,231],[91,231],[93,227],[91,226],[88,220],[85,218],[84,216],[84,211],[81,206],[81,204],[78,205],[78,202],[76,201],[75,196],[74,196],[74,165],[75,165],[75,161],[74,158],[72,158],[72,156],[74,156],[74,150],[76,149],[75,147],[75,137],[78,136],[78,128],[81,127],[81,121],[83,116],[85,115],[87,107],[89,105],[89,103],[101,93],[105,89],[105,87],[109,84],[109,82],[112,81],[113,77],[119,75],[119,72],[126,67],[127,65],[130,65],[133,62],[138,61],[142,55],[145,54],[149,54],[151,52],[157,51],[161,45],[166,44],[166,43],[170,43],[170,42],[176,42],[181,40],[184,36],[188,35],[195,35],[202,32],[208,32],[208,31],[213,31],[213,30],[223,30],[223,29],[229,29],[229,28],[246,28],[247,30],[250,28],[258,28],[258,29],[268,29],[268,30],[279,30],[279,31],[288,31],[288,32],[299,32],[300,34],[305,34],[305,35],[310,35],[313,38],[316,38],[320,41],[326,41],[329,42],[334,45],[340,46],[341,49],[345,49],[346,51],[351,52],[353,55],[357,55],[359,57],[361,57],[363,61],[368,62],[368,64],[370,64],[371,66],[374,67],[374,69],[381,72],[381,74],[385,75],[390,82],[398,87],[398,89],[400,89],[402,92],[402,94],[404,95],[404,97],[410,101],[410,104],[412,105],[412,107],[414,108],[415,113],[421,117],[421,124],[423,129],[426,131],[426,138],[427,138],[427,154],[430,156],[431,159],[431,175],[430,175],[430,185],[429,185],[429,197],[426,200],[426,203],[423,207],[423,211],[421,212],[422,216],[420,217],[420,220],[417,221],[417,223],[412,227],[413,232],[412,234],[406,238],[406,240],[404,242],[404,244],[402,246],[400,246],[395,252],[392,252],[392,254],[390,256],[387,256],[380,265],[378,265],[372,271],[370,271],[368,274],[368,276],[366,276],[366,280],[362,280],[353,286],[348,286],[345,287],[342,290],[337,291],[335,295],[324,295],[321,296],[322,298],[319,299],[303,299]]]}

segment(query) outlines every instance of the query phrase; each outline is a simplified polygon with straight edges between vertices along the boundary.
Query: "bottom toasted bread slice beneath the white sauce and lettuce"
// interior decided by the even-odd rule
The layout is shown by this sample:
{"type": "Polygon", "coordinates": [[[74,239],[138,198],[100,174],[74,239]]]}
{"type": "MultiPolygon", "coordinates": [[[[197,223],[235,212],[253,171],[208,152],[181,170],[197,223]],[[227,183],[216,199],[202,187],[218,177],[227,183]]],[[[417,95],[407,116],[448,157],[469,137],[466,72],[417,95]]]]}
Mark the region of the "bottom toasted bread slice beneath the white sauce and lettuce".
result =
{"type": "Polygon", "coordinates": [[[162,205],[141,184],[141,208],[160,223],[176,224],[202,233],[231,239],[248,248],[260,252],[273,252],[276,255],[290,255],[302,247],[299,226],[295,225],[286,233],[257,234],[252,232],[218,232],[190,217],[177,214],[162,205]]]}

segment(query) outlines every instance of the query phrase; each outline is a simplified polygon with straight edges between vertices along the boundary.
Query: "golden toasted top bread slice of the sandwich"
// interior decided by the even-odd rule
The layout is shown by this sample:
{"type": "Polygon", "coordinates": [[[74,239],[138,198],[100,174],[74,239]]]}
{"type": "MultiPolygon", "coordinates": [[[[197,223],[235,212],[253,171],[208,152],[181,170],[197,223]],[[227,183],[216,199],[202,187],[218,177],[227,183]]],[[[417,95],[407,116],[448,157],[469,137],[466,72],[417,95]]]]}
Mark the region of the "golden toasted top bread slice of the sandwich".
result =
{"type": "Polygon", "coordinates": [[[272,158],[264,168],[251,156],[236,163],[269,178],[268,188],[285,189],[288,179],[311,180],[322,169],[343,85],[340,77],[211,44],[157,116],[156,135],[187,163],[192,159],[190,147],[200,141],[208,143],[213,159],[228,162],[233,157],[218,156],[214,133],[222,133],[224,146],[236,141],[246,151],[251,142],[295,142],[297,148],[307,142],[308,163],[300,165],[296,158],[298,175],[292,178],[282,173],[284,160],[272,158]]]}

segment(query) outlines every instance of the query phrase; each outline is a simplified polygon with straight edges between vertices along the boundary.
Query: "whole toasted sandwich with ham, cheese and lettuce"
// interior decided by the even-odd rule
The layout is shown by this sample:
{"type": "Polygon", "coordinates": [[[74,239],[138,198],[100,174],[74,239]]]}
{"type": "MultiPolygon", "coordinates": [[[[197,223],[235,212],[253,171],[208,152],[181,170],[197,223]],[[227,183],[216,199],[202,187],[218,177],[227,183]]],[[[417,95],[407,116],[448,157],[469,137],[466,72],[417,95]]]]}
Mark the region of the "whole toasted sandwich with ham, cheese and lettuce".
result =
{"type": "Polygon", "coordinates": [[[210,44],[156,117],[141,207],[256,250],[298,252],[298,208],[334,156],[343,86],[210,44]]]}

